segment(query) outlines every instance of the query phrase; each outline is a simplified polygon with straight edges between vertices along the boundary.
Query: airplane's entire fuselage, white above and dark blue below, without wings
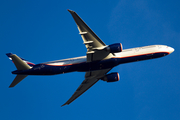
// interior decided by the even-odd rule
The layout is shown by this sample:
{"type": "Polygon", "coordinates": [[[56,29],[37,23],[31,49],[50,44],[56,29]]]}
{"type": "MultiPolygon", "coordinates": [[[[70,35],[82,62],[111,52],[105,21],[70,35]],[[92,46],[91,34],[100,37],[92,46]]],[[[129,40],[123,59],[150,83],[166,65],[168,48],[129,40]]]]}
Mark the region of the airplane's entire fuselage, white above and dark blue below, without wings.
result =
{"type": "Polygon", "coordinates": [[[119,64],[163,57],[172,53],[173,51],[173,48],[165,45],[137,47],[125,49],[119,53],[113,53],[111,54],[112,57],[103,60],[87,62],[86,56],[75,57],[40,63],[34,65],[32,69],[24,71],[14,71],[13,74],[54,75],[74,71],[88,72],[103,69],[112,69],[119,64]]]}

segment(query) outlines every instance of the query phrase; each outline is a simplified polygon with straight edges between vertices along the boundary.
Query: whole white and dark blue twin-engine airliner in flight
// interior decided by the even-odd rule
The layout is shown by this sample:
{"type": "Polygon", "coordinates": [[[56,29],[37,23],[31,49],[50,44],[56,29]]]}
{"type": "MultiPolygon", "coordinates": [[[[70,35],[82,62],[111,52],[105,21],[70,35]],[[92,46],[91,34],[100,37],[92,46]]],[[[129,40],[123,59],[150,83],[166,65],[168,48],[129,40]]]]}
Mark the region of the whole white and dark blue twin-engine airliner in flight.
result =
{"type": "Polygon", "coordinates": [[[34,64],[16,54],[6,55],[13,61],[17,70],[12,74],[17,76],[9,86],[14,87],[28,75],[56,75],[69,72],[85,72],[85,80],[64,105],[69,105],[86,92],[99,80],[106,82],[119,81],[119,73],[108,73],[113,67],[130,62],[148,60],[169,55],[174,48],[166,45],[150,45],[123,49],[121,43],[106,45],[91,28],[72,10],[68,10],[79,30],[83,43],[87,48],[86,56],[34,64]]]}

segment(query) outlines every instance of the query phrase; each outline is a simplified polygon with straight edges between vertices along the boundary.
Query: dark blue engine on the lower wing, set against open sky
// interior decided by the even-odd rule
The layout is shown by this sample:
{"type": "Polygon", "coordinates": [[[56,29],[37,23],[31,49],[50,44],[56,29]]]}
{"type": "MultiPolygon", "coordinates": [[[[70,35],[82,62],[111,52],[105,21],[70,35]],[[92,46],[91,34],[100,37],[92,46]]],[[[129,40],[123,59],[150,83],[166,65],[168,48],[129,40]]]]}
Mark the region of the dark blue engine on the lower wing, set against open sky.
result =
{"type": "Polygon", "coordinates": [[[119,81],[119,73],[113,72],[113,73],[107,74],[101,79],[107,82],[116,82],[116,81],[119,81]]]}

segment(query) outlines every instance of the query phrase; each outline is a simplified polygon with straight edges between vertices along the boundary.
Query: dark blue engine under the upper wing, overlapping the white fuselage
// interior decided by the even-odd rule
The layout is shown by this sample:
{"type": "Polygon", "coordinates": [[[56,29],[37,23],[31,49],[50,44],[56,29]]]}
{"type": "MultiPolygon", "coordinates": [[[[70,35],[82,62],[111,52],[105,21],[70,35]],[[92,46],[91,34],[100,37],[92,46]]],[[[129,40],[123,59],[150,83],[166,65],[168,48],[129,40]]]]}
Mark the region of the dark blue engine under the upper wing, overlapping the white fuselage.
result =
{"type": "Polygon", "coordinates": [[[121,43],[111,44],[108,47],[106,47],[106,50],[109,51],[110,53],[121,52],[122,49],[123,49],[123,47],[122,47],[121,43]]]}

